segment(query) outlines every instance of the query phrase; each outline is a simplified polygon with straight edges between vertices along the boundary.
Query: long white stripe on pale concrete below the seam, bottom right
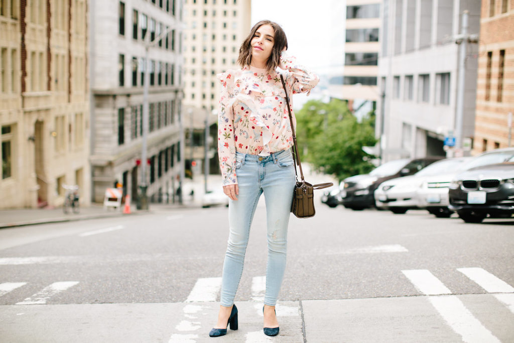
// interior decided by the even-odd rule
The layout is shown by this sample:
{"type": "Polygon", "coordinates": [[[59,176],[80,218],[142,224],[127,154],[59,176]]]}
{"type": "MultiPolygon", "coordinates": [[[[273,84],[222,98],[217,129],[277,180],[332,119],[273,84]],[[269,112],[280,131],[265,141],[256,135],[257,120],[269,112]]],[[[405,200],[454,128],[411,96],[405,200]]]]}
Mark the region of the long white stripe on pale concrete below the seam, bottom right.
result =
{"type": "Polygon", "coordinates": [[[469,312],[457,296],[438,296],[428,299],[453,331],[462,336],[463,341],[500,343],[500,340],[469,312]]]}

